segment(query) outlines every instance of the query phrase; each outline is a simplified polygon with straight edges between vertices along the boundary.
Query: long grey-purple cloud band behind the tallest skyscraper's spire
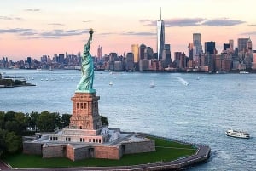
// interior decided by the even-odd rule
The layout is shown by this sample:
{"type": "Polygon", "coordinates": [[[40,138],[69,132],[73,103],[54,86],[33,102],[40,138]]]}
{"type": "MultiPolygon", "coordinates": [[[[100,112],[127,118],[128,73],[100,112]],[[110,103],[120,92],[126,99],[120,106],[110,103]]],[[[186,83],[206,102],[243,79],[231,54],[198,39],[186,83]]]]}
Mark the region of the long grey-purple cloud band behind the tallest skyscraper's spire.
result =
{"type": "MultiPolygon", "coordinates": [[[[144,26],[156,26],[156,20],[140,20],[144,26]]],[[[236,26],[245,21],[222,19],[204,19],[204,18],[176,18],[164,20],[166,27],[173,26],[236,26]]]]}

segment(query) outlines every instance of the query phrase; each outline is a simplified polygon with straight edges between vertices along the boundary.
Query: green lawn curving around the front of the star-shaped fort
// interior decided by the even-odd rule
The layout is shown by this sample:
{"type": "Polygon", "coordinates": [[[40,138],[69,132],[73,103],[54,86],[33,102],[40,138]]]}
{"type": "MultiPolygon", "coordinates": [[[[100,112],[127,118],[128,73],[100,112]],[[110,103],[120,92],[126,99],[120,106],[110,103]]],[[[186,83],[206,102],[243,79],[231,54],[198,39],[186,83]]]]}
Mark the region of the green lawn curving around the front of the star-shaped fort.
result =
{"type": "Polygon", "coordinates": [[[139,154],[124,155],[120,160],[84,159],[71,161],[67,158],[42,158],[38,155],[18,154],[6,157],[4,162],[12,168],[67,168],[79,166],[122,166],[148,162],[172,161],[180,157],[195,154],[196,148],[192,145],[183,145],[177,142],[150,137],[155,140],[156,151],[139,154]]]}

